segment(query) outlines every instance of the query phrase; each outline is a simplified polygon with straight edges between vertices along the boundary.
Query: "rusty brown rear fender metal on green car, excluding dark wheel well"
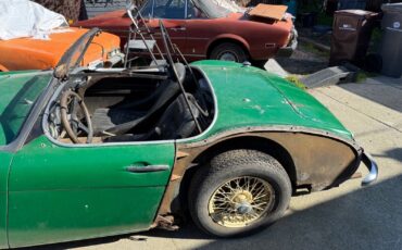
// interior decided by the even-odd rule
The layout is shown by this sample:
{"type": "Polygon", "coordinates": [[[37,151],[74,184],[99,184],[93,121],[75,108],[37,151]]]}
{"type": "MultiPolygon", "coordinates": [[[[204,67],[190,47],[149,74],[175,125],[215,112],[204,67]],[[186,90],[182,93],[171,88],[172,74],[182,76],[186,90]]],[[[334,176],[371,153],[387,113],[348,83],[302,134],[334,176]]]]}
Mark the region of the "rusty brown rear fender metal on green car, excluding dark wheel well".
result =
{"type": "MultiPolygon", "coordinates": [[[[317,130],[296,127],[243,128],[211,137],[196,143],[177,143],[176,162],[159,214],[172,213],[172,202],[178,193],[186,171],[199,165],[202,154],[214,154],[215,146],[244,138],[264,139],[282,147],[291,155],[289,172],[294,171],[296,187],[319,191],[349,179],[360,164],[362,149],[341,137],[317,130]],[[266,132],[272,129],[272,132],[266,132]]],[[[235,146],[236,147],[236,146],[235,146]]],[[[243,145],[251,147],[252,145],[243,145]]],[[[269,149],[267,149],[269,150],[269,149]]],[[[272,153],[272,152],[271,152],[272,153]]]]}

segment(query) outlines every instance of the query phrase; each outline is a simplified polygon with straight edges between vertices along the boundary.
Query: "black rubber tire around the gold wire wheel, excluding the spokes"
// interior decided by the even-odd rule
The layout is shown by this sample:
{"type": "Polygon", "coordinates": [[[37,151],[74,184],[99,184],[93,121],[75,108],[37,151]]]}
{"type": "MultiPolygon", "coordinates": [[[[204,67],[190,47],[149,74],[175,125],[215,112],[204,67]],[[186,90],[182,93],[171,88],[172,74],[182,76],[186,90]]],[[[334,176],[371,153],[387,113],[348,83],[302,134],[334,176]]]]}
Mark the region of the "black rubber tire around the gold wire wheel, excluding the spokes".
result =
{"type": "Polygon", "coordinates": [[[273,157],[255,150],[231,150],[213,158],[209,165],[194,174],[189,188],[189,210],[196,225],[216,237],[235,237],[255,233],[282,216],[292,193],[288,174],[273,157]],[[209,201],[215,190],[229,179],[253,176],[268,182],[275,190],[275,204],[271,212],[254,223],[240,227],[225,227],[209,215],[209,201]]]}

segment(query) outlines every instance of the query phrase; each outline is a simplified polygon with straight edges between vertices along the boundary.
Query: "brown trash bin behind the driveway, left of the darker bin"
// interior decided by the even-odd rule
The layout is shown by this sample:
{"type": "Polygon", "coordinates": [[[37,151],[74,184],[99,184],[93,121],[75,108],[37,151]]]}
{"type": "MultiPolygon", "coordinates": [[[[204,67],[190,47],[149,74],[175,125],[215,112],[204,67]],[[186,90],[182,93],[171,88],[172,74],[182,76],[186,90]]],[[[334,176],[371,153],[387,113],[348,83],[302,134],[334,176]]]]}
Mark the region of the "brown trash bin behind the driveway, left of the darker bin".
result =
{"type": "Polygon", "coordinates": [[[335,12],[330,65],[363,63],[377,16],[377,13],[362,10],[335,12]]]}

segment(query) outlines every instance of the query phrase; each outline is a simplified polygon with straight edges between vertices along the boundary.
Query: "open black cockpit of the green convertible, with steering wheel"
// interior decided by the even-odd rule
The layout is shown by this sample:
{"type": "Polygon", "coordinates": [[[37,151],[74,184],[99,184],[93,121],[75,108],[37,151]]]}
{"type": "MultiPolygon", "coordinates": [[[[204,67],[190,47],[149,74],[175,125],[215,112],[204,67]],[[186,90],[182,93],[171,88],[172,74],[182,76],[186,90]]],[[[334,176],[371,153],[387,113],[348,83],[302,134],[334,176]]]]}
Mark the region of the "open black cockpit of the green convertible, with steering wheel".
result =
{"type": "Polygon", "coordinates": [[[169,140],[200,134],[215,113],[211,86],[196,68],[194,77],[180,63],[175,68],[185,92],[168,75],[73,77],[50,107],[49,134],[70,143],[169,140]]]}

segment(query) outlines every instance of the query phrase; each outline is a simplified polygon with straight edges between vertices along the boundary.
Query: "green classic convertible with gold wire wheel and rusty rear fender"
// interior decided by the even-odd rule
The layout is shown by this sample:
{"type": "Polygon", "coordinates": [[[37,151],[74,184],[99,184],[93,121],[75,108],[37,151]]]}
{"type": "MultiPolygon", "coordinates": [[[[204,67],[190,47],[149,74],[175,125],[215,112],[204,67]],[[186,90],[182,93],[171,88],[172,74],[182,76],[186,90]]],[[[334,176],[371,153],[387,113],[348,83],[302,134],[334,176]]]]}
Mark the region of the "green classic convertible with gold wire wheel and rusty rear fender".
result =
{"type": "Polygon", "coordinates": [[[98,32],[54,72],[0,73],[1,248],[174,229],[185,214],[213,236],[244,235],[361,162],[363,184],[376,179],[352,134],[287,80],[176,63],[167,38],[164,64],[79,67],[98,32]]]}

